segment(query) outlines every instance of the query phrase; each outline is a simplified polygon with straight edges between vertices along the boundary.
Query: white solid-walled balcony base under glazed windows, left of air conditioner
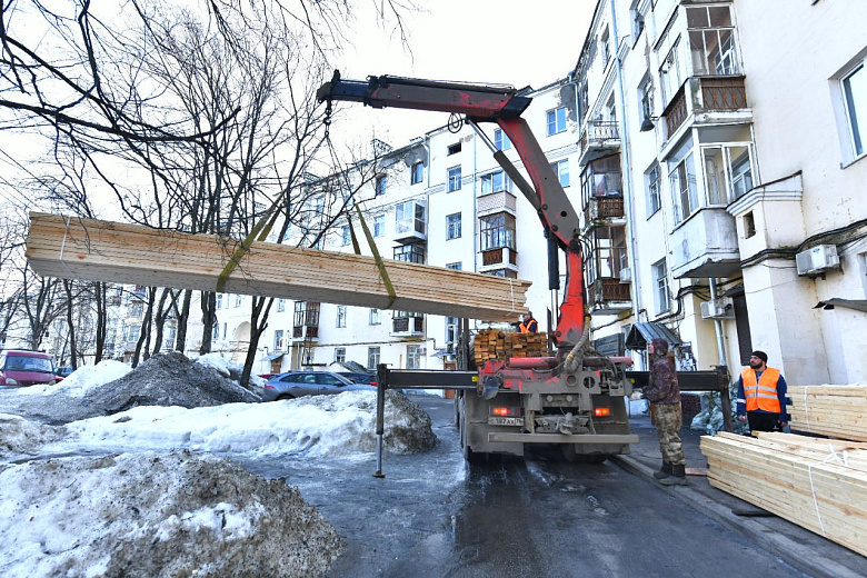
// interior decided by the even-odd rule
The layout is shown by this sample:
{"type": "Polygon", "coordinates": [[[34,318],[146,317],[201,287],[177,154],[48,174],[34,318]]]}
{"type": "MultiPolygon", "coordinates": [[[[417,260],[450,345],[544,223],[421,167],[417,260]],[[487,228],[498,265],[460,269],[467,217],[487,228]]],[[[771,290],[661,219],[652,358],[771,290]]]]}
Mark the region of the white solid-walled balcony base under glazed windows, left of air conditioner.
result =
{"type": "Polygon", "coordinates": [[[740,270],[735,218],[725,208],[699,209],[671,232],[671,275],[730,277],[740,270]]]}

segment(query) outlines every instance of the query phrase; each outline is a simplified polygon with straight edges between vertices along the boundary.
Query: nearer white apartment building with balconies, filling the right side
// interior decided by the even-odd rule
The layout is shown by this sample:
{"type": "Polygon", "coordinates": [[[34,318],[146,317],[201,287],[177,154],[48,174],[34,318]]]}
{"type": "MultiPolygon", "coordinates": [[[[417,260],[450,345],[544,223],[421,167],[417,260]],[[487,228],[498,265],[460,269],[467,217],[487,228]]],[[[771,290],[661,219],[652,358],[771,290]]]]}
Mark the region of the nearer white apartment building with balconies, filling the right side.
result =
{"type": "Polygon", "coordinates": [[[640,357],[665,335],[684,369],[736,373],[763,349],[796,385],[865,379],[866,10],[597,3],[574,72],[590,308],[617,316],[597,339],[640,357]]]}

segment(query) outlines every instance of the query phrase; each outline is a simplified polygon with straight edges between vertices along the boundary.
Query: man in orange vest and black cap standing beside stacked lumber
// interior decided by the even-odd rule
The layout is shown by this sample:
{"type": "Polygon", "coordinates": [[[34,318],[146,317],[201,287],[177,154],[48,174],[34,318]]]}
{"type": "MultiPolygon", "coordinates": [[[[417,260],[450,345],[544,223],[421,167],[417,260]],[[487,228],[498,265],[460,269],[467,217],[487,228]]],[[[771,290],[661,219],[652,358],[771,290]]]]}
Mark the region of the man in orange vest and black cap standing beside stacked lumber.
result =
{"type": "Polygon", "coordinates": [[[749,367],[744,368],[738,381],[737,413],[740,421],[749,420],[750,431],[781,430],[789,420],[786,380],[779,369],[767,363],[765,351],[753,351],[749,367]]]}

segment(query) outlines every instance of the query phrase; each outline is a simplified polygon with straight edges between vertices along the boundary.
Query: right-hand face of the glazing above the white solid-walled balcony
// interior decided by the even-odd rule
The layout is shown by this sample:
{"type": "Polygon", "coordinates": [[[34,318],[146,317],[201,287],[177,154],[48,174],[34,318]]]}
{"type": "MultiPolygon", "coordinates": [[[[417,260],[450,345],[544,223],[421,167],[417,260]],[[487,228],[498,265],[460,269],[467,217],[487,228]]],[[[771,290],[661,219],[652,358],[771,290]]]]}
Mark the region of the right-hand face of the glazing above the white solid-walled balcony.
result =
{"type": "Polygon", "coordinates": [[[705,190],[708,205],[728,205],[753,188],[749,144],[705,147],[705,190]]]}

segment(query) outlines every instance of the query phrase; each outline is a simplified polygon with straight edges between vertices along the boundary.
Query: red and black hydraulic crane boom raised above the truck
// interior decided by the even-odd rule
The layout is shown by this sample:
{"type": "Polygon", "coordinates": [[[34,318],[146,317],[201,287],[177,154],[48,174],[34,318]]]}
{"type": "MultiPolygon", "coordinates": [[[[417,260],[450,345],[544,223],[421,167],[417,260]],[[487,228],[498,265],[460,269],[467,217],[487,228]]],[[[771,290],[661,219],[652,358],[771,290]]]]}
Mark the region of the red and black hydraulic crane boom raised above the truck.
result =
{"type": "Polygon", "coordinates": [[[579,220],[539,142],[520,114],[532,99],[517,94],[512,87],[470,84],[401,77],[369,77],[367,81],[343,80],[335,71],[330,82],[317,91],[322,102],[343,100],[373,108],[406,108],[466,114],[471,122],[496,122],[511,140],[527,173],[530,187],[502,153],[494,158],[520,188],[539,215],[542,226],[566,252],[567,281],[555,338],[568,350],[581,338],[585,326],[584,261],[579,220]]]}

